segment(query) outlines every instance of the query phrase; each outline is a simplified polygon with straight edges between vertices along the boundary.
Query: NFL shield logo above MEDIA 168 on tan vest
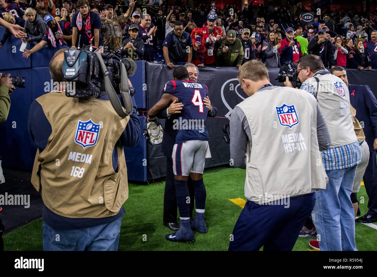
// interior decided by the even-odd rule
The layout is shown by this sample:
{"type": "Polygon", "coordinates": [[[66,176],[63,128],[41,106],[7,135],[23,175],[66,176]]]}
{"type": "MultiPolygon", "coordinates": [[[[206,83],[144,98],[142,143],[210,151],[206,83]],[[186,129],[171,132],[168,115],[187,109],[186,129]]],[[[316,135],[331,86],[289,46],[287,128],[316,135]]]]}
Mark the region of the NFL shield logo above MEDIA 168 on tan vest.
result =
{"type": "Polygon", "coordinates": [[[76,128],[75,142],[83,148],[97,143],[100,134],[100,124],[95,124],[90,118],[88,121],[79,120],[76,128]]]}

